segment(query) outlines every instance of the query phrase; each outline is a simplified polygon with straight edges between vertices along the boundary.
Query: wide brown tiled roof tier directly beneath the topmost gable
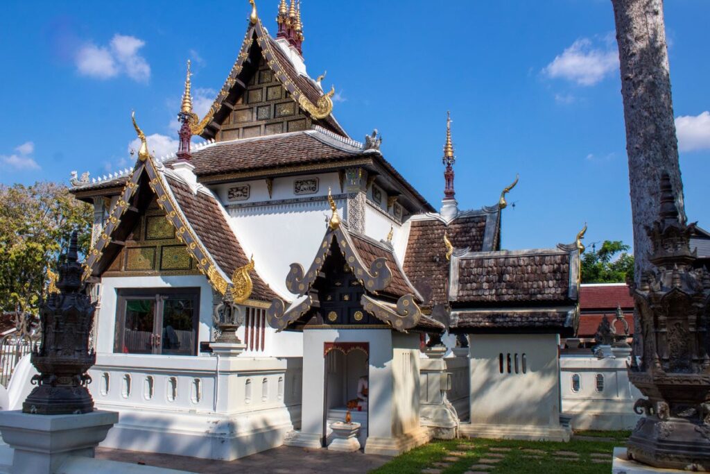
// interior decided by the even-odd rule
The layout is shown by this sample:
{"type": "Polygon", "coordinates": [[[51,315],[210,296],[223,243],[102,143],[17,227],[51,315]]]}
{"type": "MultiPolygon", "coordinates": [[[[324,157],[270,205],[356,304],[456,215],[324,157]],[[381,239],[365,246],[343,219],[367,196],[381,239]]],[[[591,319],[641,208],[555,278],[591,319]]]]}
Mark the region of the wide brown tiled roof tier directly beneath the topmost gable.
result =
{"type": "Polygon", "coordinates": [[[222,141],[192,153],[197,176],[253,171],[278,166],[327,163],[356,158],[360,151],[345,151],[315,139],[313,132],[298,131],[234,141],[222,141]]]}

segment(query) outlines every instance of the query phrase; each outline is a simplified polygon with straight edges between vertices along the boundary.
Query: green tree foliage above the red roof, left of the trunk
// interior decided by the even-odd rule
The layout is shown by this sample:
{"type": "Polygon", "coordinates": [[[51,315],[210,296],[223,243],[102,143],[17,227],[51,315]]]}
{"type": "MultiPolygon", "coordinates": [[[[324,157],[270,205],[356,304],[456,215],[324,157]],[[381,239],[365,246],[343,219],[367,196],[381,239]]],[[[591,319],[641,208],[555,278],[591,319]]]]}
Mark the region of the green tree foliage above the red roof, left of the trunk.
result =
{"type": "Polygon", "coordinates": [[[581,257],[582,283],[626,283],[633,279],[633,255],[621,240],[605,240],[596,252],[589,249],[581,257]]]}

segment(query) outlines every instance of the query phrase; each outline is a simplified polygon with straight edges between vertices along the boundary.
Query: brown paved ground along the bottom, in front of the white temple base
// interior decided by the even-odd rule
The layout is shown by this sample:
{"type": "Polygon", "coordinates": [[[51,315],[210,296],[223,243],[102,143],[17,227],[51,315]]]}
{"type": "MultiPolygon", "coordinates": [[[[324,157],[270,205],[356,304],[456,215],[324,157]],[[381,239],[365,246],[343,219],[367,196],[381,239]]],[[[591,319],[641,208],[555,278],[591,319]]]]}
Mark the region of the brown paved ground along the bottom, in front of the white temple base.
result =
{"type": "MultiPolygon", "coordinates": [[[[361,451],[340,453],[327,449],[305,449],[292,446],[280,446],[231,461],[109,448],[97,448],[96,457],[117,460],[122,463],[144,463],[159,468],[187,470],[201,474],[295,474],[296,472],[298,474],[364,474],[392,460],[388,456],[364,454],[361,451]]],[[[459,460],[459,458],[454,458],[454,460],[459,460]]]]}

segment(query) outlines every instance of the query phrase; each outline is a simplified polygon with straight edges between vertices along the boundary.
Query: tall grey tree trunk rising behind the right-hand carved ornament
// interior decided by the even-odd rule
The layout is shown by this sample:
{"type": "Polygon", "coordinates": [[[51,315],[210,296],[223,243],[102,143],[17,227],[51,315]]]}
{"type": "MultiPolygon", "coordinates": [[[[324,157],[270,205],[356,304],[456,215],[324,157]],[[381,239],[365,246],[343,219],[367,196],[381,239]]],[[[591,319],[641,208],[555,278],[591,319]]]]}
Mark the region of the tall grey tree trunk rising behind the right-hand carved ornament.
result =
{"type": "Polygon", "coordinates": [[[683,183],[670,91],[663,0],[611,0],[621,63],[621,95],[633,214],[634,279],[649,269],[646,235],[658,218],[660,176],[667,171],[681,219],[683,183]]]}

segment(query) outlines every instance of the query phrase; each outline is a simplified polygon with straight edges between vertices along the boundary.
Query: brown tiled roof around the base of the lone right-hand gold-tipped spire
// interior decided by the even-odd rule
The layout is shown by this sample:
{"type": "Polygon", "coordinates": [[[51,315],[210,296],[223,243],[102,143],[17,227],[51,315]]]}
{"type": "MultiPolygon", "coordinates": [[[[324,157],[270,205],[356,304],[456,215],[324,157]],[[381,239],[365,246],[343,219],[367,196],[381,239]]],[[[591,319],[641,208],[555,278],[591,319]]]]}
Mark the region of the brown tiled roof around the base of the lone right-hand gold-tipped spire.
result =
{"type": "Polygon", "coordinates": [[[424,298],[425,306],[447,303],[449,262],[444,232],[455,248],[479,252],[486,232],[486,214],[459,217],[449,225],[436,218],[414,220],[404,259],[404,271],[424,298]]]}

